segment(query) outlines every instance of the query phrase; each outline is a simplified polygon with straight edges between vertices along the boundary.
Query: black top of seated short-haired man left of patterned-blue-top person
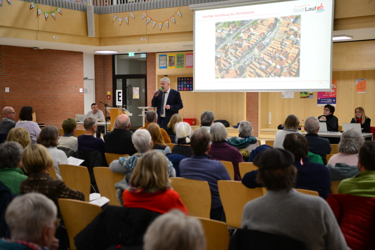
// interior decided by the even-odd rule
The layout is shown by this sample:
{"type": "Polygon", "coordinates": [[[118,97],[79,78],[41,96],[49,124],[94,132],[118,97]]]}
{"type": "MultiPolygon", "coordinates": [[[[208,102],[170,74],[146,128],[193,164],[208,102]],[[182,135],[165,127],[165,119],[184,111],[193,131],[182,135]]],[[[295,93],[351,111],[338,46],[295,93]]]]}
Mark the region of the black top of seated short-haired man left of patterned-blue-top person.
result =
{"type": "Polygon", "coordinates": [[[137,152],[132,143],[132,132],[115,128],[104,136],[105,152],[133,155],[137,152]]]}

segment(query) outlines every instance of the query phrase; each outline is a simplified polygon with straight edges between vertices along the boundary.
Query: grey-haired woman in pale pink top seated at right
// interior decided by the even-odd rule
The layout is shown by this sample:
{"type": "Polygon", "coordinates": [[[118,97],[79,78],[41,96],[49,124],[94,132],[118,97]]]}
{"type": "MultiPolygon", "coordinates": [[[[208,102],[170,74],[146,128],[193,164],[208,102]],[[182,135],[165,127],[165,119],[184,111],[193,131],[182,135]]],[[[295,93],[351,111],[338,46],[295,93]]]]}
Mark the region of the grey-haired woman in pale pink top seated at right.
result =
{"type": "Polygon", "coordinates": [[[364,142],[362,134],[352,127],[342,133],[338,144],[339,153],[333,155],[327,163],[331,181],[352,178],[359,173],[358,150],[364,142]]]}

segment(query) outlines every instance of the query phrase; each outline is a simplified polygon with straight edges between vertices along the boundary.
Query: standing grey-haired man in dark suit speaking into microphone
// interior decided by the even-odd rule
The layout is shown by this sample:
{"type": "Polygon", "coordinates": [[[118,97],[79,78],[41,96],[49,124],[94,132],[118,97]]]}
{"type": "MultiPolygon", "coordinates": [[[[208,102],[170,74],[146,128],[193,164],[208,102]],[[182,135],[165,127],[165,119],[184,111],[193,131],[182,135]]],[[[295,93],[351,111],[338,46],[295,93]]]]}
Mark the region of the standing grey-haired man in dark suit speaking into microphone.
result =
{"type": "Polygon", "coordinates": [[[174,114],[178,114],[178,110],[183,108],[180,93],[170,88],[170,80],[168,77],[160,79],[159,90],[154,92],[154,98],[151,102],[153,107],[157,107],[157,124],[164,129],[168,129],[167,125],[174,114]]]}

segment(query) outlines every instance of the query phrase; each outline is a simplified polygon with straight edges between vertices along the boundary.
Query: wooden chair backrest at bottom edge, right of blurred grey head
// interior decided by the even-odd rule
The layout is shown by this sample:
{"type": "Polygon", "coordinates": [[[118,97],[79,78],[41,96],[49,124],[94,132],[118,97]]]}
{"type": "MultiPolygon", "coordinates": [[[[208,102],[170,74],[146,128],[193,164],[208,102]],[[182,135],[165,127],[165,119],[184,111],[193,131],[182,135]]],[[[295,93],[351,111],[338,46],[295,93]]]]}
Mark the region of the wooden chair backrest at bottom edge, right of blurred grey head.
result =
{"type": "Polygon", "coordinates": [[[202,224],[204,236],[206,237],[206,250],[228,250],[229,231],[224,222],[195,217],[202,224]]]}

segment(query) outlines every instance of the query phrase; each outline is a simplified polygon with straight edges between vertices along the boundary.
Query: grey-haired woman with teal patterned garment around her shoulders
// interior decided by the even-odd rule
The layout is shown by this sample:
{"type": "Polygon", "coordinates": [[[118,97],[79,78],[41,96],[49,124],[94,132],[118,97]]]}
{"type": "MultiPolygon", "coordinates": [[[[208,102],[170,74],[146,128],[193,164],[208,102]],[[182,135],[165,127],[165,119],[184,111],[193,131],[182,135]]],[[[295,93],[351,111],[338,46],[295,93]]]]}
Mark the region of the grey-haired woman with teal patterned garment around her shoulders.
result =
{"type": "Polygon", "coordinates": [[[257,148],[257,138],[251,135],[253,127],[248,121],[242,121],[238,126],[239,136],[227,139],[230,146],[237,147],[243,155],[243,160],[247,161],[253,149],[257,148]]]}

